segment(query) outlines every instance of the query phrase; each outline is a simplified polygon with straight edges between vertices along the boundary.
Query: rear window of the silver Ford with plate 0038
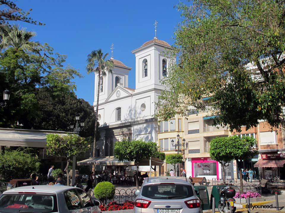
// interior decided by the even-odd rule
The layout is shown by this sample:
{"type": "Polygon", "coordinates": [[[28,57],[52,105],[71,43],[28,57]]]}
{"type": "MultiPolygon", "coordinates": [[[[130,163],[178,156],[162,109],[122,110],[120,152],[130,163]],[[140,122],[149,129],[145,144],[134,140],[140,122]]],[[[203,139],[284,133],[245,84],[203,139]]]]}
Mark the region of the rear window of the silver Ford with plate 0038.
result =
{"type": "Polygon", "coordinates": [[[190,185],[153,184],[143,186],[142,196],[150,199],[185,199],[194,196],[194,192],[190,185]]]}

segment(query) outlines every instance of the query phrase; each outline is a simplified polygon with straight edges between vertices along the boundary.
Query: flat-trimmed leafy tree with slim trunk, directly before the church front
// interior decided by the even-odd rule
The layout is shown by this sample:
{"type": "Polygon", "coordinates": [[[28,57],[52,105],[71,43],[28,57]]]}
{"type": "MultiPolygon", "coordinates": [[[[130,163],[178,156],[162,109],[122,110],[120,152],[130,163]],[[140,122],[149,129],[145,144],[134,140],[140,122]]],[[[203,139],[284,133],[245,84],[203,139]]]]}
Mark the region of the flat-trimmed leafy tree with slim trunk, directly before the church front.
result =
{"type": "Polygon", "coordinates": [[[149,159],[150,157],[157,156],[158,146],[155,142],[145,142],[142,138],[138,140],[128,140],[123,139],[122,141],[115,142],[114,146],[114,156],[119,159],[119,161],[127,160],[129,162],[134,161],[136,169],[136,186],[139,188],[139,165],[144,159],[149,159]]]}

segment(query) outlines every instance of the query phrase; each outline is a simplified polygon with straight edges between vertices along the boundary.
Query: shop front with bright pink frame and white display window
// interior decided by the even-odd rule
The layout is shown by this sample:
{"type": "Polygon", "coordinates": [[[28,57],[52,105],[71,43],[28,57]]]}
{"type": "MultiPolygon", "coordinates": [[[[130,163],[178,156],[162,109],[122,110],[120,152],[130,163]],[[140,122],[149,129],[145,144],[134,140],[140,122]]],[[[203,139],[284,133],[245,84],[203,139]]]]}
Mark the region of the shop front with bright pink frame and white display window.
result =
{"type": "Polygon", "coordinates": [[[220,164],[210,157],[191,159],[192,177],[217,178],[221,177],[220,164]]]}

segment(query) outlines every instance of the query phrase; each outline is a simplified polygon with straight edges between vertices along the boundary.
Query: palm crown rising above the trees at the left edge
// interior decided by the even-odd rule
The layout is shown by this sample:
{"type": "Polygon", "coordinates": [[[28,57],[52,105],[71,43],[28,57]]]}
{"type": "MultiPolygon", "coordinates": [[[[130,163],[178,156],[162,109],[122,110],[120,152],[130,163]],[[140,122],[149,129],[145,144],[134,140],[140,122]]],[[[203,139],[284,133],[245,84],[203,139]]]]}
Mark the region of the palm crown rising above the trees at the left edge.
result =
{"type": "Polygon", "coordinates": [[[16,50],[22,48],[25,51],[36,52],[39,50],[40,43],[31,41],[36,35],[35,32],[26,31],[25,28],[20,29],[19,25],[0,25],[0,50],[13,47],[16,50]]]}

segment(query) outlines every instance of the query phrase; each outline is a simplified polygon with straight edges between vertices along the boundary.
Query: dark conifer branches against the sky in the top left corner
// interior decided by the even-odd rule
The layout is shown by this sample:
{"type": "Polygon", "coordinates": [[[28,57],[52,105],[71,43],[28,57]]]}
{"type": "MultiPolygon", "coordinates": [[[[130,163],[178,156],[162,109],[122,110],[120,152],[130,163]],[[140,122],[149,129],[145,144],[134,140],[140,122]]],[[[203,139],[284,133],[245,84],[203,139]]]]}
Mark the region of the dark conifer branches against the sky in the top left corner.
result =
{"type": "Polygon", "coordinates": [[[28,17],[31,10],[32,9],[25,12],[17,7],[13,1],[0,0],[0,25],[7,24],[9,21],[22,21],[36,25],[44,25],[28,17]]]}

